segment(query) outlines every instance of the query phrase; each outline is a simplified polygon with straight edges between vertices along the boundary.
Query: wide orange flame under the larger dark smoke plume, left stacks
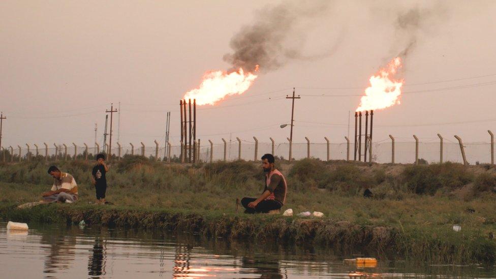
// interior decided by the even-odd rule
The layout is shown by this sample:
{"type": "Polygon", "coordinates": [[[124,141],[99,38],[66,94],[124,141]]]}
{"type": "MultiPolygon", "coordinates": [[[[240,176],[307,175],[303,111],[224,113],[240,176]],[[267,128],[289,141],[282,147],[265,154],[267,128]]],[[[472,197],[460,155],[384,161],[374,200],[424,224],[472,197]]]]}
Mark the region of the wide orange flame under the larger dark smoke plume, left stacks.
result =
{"type": "MultiPolygon", "coordinates": [[[[258,70],[258,67],[255,71],[258,70]]],[[[207,72],[199,88],[186,92],[183,99],[196,99],[197,105],[215,105],[227,96],[243,94],[253,84],[257,75],[244,73],[239,68],[236,72],[207,72]]]]}

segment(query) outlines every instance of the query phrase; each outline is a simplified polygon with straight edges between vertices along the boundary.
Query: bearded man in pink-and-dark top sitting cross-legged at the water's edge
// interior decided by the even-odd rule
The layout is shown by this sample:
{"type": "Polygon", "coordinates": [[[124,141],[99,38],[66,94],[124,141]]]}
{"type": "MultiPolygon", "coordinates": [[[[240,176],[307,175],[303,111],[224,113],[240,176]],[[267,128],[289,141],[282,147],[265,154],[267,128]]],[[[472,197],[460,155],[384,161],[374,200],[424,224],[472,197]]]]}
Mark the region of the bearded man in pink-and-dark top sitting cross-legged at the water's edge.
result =
{"type": "Polygon", "coordinates": [[[265,174],[265,188],[258,198],[243,198],[241,204],[246,208],[245,213],[267,213],[280,209],[286,201],[286,179],[275,169],[275,158],[272,154],[262,156],[262,167],[265,174]]]}

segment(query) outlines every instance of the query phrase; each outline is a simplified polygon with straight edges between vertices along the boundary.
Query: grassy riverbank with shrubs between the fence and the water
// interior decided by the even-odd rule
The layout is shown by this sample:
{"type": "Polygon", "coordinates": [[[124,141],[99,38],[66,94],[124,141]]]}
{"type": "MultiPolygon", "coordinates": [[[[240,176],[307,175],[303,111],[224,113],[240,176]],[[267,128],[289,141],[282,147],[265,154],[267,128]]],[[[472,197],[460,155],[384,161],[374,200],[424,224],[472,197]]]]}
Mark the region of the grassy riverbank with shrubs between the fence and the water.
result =
{"type": "Polygon", "coordinates": [[[262,190],[263,174],[255,163],[185,166],[129,157],[110,165],[107,198],[112,206],[89,204],[94,201],[91,167],[92,162],[60,163],[80,184],[77,204],[16,210],[14,205],[39,200],[39,193],[49,189],[47,165],[0,165],[0,215],[6,221],[85,220],[232,238],[317,241],[437,263],[496,259],[496,241],[489,237],[496,233],[496,196],[491,191],[496,170],[490,166],[283,163],[289,183],[283,209],[321,211],[323,220],[236,211],[236,198],[262,190]],[[365,188],[374,198],[361,196],[365,188]],[[462,230],[454,232],[453,224],[462,230]]]}

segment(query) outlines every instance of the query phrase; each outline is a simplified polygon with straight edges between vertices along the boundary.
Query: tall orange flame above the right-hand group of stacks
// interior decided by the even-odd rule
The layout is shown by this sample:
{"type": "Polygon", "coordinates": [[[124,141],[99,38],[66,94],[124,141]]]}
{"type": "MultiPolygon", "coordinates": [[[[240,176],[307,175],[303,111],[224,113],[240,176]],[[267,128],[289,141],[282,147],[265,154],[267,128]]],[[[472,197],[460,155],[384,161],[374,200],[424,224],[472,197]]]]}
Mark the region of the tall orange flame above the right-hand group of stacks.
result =
{"type": "Polygon", "coordinates": [[[356,111],[384,109],[399,103],[403,80],[395,80],[394,75],[401,68],[401,58],[392,59],[386,68],[370,77],[370,86],[365,89],[356,111]]]}

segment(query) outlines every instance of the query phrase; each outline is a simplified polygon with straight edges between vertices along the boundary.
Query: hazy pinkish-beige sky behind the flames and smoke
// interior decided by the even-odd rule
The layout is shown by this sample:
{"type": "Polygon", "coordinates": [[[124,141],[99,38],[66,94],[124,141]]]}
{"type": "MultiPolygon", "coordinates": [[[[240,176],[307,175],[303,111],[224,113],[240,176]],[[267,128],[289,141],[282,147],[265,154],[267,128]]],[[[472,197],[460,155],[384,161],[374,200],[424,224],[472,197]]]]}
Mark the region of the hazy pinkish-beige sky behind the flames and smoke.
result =
{"type": "MultiPolygon", "coordinates": [[[[95,123],[102,141],[111,102],[121,103],[122,144],[153,146],[157,139],[163,145],[167,111],[177,144],[184,92],[196,88],[206,71],[229,69],[223,56],[232,52],[231,38],[278,3],[0,2],[0,110],[8,118],[3,146],[92,145],[95,123]]],[[[416,134],[429,141],[441,133],[488,141],[487,130],[496,130],[494,14],[493,1],[330,2],[324,15],[301,20],[285,41],[319,58],[288,60],[262,73],[243,96],[199,107],[198,137],[221,142],[232,133],[233,139],[285,140],[289,127],[278,126],[289,123],[291,102],[284,97],[296,87],[302,98],[296,101],[294,141],[308,136],[324,142],[327,136],[343,142],[349,111],[359,104],[356,95],[413,38],[401,104],[376,112],[375,140],[392,134],[410,141],[416,134]],[[411,9],[426,16],[418,28],[398,29],[398,15],[411,9]]]]}

